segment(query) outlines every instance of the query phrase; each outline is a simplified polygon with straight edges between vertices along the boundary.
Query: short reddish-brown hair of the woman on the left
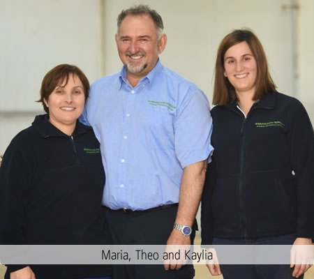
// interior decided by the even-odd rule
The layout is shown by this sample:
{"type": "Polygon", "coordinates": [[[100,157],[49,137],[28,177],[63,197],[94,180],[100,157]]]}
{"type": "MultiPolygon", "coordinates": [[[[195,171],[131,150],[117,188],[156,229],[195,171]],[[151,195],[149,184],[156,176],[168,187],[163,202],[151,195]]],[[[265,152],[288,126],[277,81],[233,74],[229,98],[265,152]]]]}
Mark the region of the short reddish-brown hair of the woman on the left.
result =
{"type": "Polygon", "coordinates": [[[89,80],[86,75],[84,75],[82,70],[77,66],[61,64],[50,70],[43,78],[43,82],[41,82],[40,99],[38,102],[43,103],[43,108],[47,114],[49,114],[49,109],[45,105],[44,100],[48,100],[52,91],[54,91],[57,86],[63,84],[64,81],[66,82],[64,85],[68,84],[68,78],[71,74],[77,76],[82,82],[86,103],[87,98],[89,98],[89,80]]]}

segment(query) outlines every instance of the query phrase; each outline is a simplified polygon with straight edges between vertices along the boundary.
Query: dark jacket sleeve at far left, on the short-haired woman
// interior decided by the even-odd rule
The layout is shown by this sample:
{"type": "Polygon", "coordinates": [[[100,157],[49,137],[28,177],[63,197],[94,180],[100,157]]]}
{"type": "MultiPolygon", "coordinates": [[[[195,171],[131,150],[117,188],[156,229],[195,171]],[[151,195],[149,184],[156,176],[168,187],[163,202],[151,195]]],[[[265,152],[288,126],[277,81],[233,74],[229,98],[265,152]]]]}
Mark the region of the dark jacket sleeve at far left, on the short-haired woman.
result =
{"type": "MultiPolygon", "coordinates": [[[[14,140],[4,153],[0,167],[0,244],[26,244],[25,207],[27,190],[31,183],[31,164],[20,148],[20,141],[14,140]]],[[[9,263],[6,255],[2,262],[9,263]]],[[[8,271],[22,269],[24,265],[8,265],[8,271]]]]}

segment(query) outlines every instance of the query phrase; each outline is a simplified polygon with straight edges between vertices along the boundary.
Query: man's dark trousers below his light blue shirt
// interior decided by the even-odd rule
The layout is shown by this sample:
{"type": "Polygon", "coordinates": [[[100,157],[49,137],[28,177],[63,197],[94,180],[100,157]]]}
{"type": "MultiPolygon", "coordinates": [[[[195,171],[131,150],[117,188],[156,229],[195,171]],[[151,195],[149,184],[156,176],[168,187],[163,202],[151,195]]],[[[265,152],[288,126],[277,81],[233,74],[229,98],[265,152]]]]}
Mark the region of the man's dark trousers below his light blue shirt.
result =
{"type": "MultiPolygon", "coordinates": [[[[114,244],[119,245],[165,245],[172,232],[177,215],[177,206],[159,211],[106,210],[107,223],[114,244]]],[[[195,229],[191,234],[191,243],[195,238],[195,229]]],[[[187,264],[179,270],[165,271],[163,265],[116,265],[112,266],[113,279],[191,279],[195,275],[193,265],[187,264]]]]}

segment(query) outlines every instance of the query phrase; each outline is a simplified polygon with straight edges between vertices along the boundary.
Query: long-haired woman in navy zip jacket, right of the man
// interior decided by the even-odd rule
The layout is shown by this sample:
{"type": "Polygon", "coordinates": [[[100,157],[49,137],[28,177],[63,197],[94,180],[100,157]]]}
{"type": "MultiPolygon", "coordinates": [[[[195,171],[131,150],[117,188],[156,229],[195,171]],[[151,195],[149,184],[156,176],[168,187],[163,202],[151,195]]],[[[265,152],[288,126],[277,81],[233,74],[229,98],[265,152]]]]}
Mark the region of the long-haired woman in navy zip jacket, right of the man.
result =
{"type": "MultiPolygon", "coordinates": [[[[213,103],[202,243],[311,245],[313,127],[297,99],[276,91],[252,31],[235,30],[220,43],[213,103]]],[[[311,263],[208,267],[213,275],[221,267],[225,279],[269,279],[299,277],[311,263]]]]}

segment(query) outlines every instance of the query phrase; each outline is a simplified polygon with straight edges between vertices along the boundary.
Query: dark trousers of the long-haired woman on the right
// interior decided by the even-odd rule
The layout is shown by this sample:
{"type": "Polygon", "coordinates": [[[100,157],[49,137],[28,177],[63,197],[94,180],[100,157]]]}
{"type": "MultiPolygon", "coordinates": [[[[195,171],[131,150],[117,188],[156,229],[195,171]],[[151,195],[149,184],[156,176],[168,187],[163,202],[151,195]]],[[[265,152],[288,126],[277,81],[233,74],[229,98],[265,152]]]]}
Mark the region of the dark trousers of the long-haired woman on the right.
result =
{"type": "MultiPolygon", "coordinates": [[[[271,236],[256,239],[217,239],[214,245],[291,245],[296,236],[288,234],[284,236],[271,236]]],[[[218,259],[219,260],[219,259],[218,259]]],[[[223,279],[292,279],[290,265],[278,264],[220,264],[223,279]]],[[[300,276],[299,279],[304,278],[300,276]]]]}

